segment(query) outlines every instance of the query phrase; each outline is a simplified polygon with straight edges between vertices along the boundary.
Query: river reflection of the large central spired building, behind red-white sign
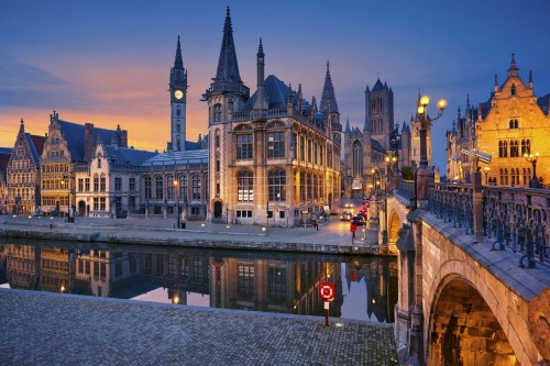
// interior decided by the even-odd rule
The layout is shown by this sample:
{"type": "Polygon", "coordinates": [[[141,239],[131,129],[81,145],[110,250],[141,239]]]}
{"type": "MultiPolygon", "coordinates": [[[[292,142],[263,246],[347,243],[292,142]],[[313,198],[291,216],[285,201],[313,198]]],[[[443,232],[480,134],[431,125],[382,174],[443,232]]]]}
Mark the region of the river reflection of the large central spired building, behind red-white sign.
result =
{"type": "Polygon", "coordinates": [[[336,298],[330,315],[341,314],[342,280],[337,263],[213,258],[212,273],[212,308],[322,315],[318,285],[331,280],[336,298]]]}

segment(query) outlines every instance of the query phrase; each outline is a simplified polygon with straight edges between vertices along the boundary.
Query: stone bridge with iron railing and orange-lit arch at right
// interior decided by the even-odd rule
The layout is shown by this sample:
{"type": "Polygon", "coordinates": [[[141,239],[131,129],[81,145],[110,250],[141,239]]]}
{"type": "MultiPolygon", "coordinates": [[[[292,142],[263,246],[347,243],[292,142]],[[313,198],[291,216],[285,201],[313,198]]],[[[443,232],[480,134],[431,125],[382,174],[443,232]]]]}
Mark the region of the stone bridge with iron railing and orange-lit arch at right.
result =
{"type": "Polygon", "coordinates": [[[385,204],[402,364],[550,365],[550,191],[410,186],[385,204]]]}

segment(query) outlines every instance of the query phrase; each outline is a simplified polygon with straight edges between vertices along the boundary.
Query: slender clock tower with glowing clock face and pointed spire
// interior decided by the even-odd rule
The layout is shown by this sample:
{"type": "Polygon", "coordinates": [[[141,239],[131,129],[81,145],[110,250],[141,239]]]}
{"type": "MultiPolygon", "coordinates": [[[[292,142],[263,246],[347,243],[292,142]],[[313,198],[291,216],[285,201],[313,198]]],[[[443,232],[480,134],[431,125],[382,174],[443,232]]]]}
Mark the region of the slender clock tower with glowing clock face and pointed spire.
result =
{"type": "Polygon", "coordinates": [[[172,124],[168,151],[183,152],[185,151],[186,137],[187,70],[184,68],[184,60],[182,59],[179,36],[177,37],[176,59],[170,68],[169,92],[172,124]]]}

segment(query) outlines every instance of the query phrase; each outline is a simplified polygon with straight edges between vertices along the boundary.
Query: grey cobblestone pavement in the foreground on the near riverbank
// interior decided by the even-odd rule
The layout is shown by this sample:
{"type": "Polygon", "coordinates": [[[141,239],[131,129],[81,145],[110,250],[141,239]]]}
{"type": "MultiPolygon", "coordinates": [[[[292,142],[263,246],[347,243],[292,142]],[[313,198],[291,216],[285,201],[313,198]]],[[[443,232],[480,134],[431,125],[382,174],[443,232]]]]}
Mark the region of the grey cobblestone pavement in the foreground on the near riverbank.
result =
{"type": "Polygon", "coordinates": [[[364,322],[0,289],[2,365],[396,365],[364,322]]]}

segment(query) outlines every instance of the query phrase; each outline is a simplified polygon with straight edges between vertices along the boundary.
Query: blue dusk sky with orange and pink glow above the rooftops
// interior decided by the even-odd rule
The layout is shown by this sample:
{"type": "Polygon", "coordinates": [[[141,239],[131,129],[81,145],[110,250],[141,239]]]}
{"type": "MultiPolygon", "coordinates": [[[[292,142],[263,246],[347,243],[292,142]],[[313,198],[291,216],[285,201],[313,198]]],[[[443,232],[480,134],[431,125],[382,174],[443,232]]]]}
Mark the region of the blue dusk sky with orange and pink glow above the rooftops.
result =
{"type": "Polygon", "coordinates": [[[47,133],[53,110],[75,123],[120,124],[135,148],[169,138],[168,75],[177,36],[188,70],[187,140],[208,131],[201,95],[216,75],[230,7],[241,78],[255,90],[262,37],[265,73],[320,100],[327,62],[344,124],[362,129],[364,90],[394,91],[395,122],[409,121],[419,90],[449,101],[433,122],[433,160],[444,171],[446,131],[457,111],[486,101],[506,79],[512,53],[537,96],[550,92],[550,1],[2,0],[0,146],[47,133]]]}

